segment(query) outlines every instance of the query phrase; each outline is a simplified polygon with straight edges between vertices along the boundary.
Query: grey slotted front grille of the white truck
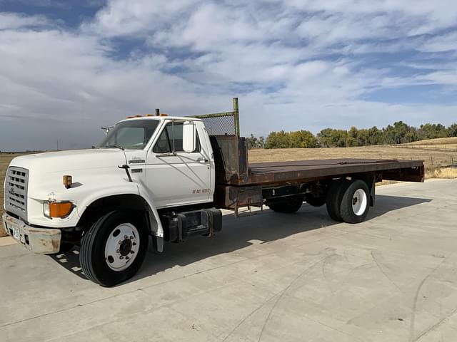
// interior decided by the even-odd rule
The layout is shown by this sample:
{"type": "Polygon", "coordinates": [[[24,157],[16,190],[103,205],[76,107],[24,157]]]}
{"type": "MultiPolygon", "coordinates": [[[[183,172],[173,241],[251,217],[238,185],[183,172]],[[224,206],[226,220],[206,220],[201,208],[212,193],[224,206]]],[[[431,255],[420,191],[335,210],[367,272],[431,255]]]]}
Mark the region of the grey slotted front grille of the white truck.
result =
{"type": "Polygon", "coordinates": [[[7,212],[27,219],[27,185],[29,170],[11,166],[6,172],[5,209],[7,212]]]}

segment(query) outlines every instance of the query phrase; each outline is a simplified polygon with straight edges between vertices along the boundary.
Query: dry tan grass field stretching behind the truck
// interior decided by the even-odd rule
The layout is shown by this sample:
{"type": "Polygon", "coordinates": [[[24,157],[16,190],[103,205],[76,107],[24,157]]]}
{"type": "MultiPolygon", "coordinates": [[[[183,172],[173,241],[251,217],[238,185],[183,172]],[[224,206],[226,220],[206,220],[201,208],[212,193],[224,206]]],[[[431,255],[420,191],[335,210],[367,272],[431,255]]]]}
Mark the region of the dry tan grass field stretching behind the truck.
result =
{"type": "MultiPolygon", "coordinates": [[[[0,153],[0,184],[3,187],[6,167],[18,153],[0,153]]],[[[456,178],[457,138],[423,140],[403,145],[378,145],[341,148],[288,148],[276,150],[250,150],[249,162],[275,162],[284,160],[310,160],[333,158],[416,159],[424,160],[427,178],[456,178]]],[[[3,190],[3,189],[1,189],[3,190]]],[[[3,213],[4,193],[0,191],[0,215],[3,213]]]]}

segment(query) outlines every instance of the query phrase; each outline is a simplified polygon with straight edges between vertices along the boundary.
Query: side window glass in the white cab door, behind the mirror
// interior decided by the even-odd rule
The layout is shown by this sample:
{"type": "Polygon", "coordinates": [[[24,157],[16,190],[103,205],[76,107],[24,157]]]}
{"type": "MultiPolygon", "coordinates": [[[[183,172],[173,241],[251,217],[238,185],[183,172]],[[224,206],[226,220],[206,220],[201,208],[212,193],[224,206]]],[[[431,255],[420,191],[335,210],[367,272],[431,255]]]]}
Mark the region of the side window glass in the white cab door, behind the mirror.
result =
{"type": "MultiPolygon", "coordinates": [[[[184,152],[183,123],[167,123],[152,151],[154,153],[184,152]]],[[[201,145],[199,140],[199,133],[197,133],[196,147],[194,152],[200,151],[201,145]]]]}

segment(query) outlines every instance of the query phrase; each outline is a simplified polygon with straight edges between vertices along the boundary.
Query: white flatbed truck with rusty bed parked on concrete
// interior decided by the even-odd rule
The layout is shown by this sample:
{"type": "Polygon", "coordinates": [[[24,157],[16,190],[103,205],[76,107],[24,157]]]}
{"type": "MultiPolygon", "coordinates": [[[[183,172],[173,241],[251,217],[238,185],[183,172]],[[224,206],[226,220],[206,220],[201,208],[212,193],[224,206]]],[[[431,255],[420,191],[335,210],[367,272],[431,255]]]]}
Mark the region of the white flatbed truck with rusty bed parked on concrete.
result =
{"type": "Polygon", "coordinates": [[[422,160],[249,165],[238,115],[233,98],[230,112],[129,117],[97,147],[14,158],[4,183],[6,232],[38,254],[79,246],[86,277],[113,286],[136,274],[150,239],[162,252],[164,242],[219,232],[221,209],[266,204],[293,213],[307,202],[358,223],[374,205],[376,182],[423,182],[422,160]]]}

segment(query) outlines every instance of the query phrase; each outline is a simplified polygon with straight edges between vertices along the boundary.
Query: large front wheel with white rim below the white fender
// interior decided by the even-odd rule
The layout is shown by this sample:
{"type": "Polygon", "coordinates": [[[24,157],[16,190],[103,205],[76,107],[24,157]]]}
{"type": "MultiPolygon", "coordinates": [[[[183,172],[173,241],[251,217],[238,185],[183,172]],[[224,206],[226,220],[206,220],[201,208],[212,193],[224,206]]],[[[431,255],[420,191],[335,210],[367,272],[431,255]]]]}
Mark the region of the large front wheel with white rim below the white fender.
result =
{"type": "Polygon", "coordinates": [[[83,235],[81,268],[88,279],[101,286],[119,284],[139,270],[148,242],[144,219],[133,213],[109,212],[83,235]]]}

